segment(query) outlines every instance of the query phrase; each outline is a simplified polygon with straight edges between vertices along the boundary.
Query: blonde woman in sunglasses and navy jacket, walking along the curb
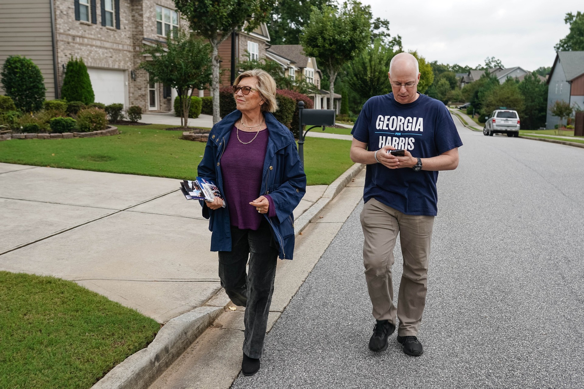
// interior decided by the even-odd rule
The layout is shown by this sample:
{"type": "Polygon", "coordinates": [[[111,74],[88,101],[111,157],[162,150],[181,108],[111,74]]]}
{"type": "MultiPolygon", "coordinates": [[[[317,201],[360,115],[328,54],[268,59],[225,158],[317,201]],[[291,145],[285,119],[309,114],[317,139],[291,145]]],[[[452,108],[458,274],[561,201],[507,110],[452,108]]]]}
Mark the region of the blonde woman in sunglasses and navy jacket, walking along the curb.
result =
{"type": "Polygon", "coordinates": [[[201,201],[209,219],[211,251],[219,252],[221,286],[245,308],[242,373],[260,367],[276,260],[291,260],[294,208],[306,190],[306,175],[294,136],[276,120],[276,83],[253,69],[234,82],[237,110],[211,129],[199,176],[217,184],[223,201],[201,201]],[[246,264],[249,258],[249,271],[246,264]]]}

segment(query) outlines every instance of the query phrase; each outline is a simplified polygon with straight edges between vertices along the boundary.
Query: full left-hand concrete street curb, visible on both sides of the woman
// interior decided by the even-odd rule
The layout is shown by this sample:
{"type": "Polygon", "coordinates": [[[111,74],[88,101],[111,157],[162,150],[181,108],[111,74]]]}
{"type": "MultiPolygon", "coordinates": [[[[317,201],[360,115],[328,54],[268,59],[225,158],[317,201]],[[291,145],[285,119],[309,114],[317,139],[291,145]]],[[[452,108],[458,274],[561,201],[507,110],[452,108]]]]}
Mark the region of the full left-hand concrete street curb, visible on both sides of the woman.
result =
{"type": "MultiPolygon", "coordinates": [[[[298,235],[318,217],[331,200],[360,173],[364,164],[356,163],[326,188],[322,197],[294,220],[298,235]]],[[[166,323],[147,348],[128,356],[99,380],[92,389],[147,389],[173,362],[224,312],[229,297],[220,289],[206,304],[166,323]]]]}

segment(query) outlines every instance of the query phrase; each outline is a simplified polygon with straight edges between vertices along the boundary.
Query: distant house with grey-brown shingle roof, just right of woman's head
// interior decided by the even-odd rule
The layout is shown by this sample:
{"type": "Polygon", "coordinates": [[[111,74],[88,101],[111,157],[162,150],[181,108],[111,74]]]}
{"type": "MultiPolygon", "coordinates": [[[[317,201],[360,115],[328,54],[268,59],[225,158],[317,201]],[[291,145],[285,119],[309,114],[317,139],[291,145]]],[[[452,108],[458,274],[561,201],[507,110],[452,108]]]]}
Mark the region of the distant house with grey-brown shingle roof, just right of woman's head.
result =
{"type": "MultiPolygon", "coordinates": [[[[322,72],[318,69],[317,59],[304,54],[302,45],[278,44],[272,45],[266,50],[266,57],[278,62],[286,74],[294,79],[305,79],[319,89],[320,93],[310,94],[314,100],[314,108],[325,109],[330,93],[321,89],[322,72]]],[[[334,97],[336,113],[340,112],[341,96],[335,93],[334,97]]]]}

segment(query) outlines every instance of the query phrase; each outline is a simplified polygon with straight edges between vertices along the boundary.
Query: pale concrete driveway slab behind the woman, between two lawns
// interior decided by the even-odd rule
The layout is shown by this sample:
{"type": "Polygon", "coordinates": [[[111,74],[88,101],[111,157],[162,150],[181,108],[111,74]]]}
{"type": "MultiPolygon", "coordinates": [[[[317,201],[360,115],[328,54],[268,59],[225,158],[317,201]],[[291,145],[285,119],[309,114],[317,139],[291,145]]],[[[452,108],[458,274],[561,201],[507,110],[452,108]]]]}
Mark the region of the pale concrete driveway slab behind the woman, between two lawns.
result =
{"type": "Polygon", "coordinates": [[[176,179],[0,163],[0,219],[0,270],[75,281],[159,323],[221,288],[208,221],[176,179]]]}

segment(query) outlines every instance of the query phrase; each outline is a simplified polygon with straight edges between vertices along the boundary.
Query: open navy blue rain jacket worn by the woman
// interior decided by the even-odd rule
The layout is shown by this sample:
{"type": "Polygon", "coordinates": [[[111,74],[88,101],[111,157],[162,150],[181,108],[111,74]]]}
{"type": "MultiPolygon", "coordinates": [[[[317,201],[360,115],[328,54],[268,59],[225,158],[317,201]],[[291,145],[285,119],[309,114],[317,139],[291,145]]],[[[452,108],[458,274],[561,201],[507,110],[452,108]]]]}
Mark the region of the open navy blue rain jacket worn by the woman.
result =
{"type": "MultiPolygon", "coordinates": [[[[269,131],[266,159],[263,163],[262,187],[258,193],[269,194],[276,208],[276,216],[263,215],[272,227],[274,240],[279,246],[280,258],[291,260],[294,253],[294,208],[306,192],[306,174],[300,162],[294,136],[288,128],[276,120],[271,113],[265,113],[269,131]]],[[[203,160],[197,168],[199,177],[214,181],[223,194],[221,177],[221,155],[229,142],[231,129],[241,118],[235,110],[217,122],[211,129],[203,160]]],[[[236,139],[237,141],[237,139],[236,139]]],[[[209,219],[211,251],[231,251],[231,223],[227,208],[210,209],[203,201],[203,217],[209,219]]],[[[251,206],[251,205],[250,205],[251,206]]],[[[229,203],[227,202],[227,207],[229,203]]]]}

